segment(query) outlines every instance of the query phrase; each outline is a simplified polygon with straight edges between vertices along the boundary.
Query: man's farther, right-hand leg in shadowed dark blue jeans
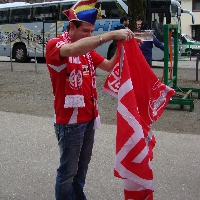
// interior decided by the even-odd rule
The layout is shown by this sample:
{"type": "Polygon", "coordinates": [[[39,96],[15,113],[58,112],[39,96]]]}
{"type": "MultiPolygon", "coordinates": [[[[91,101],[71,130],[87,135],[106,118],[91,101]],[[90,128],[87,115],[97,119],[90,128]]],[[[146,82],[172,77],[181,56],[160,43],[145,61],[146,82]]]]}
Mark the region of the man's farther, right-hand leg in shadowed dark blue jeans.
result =
{"type": "Polygon", "coordinates": [[[83,187],[85,185],[88,164],[90,163],[92,156],[94,133],[94,121],[92,120],[90,123],[88,123],[84,133],[83,146],[78,162],[78,171],[73,180],[75,200],[86,200],[83,187]]]}

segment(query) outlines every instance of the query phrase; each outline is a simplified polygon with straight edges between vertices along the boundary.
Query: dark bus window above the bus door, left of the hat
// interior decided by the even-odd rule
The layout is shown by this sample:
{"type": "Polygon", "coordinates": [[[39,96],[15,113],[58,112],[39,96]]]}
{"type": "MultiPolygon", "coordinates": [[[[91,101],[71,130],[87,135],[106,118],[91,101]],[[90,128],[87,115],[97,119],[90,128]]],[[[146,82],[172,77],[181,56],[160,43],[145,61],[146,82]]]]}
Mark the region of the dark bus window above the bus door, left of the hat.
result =
{"type": "Polygon", "coordinates": [[[58,9],[56,5],[38,5],[33,7],[33,21],[57,20],[58,9]]]}

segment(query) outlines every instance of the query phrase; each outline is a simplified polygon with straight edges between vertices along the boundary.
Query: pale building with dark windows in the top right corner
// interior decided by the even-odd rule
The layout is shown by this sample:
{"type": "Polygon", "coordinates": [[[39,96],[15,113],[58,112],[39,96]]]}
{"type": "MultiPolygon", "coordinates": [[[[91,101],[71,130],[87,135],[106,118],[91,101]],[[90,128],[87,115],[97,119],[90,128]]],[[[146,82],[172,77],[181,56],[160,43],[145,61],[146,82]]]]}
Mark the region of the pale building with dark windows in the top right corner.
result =
{"type": "Polygon", "coordinates": [[[181,7],[193,12],[195,23],[192,24],[192,17],[186,13],[181,15],[182,33],[200,41],[200,0],[181,0],[181,7]]]}

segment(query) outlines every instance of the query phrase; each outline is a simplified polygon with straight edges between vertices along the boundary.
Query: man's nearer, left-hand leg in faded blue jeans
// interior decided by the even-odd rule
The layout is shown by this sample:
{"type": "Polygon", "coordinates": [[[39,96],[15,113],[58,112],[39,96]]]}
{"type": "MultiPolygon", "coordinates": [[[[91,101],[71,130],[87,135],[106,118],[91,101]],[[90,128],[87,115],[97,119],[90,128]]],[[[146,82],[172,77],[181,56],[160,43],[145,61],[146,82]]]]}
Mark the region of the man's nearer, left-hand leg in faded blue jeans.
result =
{"type": "Polygon", "coordinates": [[[55,186],[57,200],[74,200],[72,182],[77,173],[79,155],[87,124],[55,124],[56,136],[60,147],[60,166],[57,169],[55,186]]]}

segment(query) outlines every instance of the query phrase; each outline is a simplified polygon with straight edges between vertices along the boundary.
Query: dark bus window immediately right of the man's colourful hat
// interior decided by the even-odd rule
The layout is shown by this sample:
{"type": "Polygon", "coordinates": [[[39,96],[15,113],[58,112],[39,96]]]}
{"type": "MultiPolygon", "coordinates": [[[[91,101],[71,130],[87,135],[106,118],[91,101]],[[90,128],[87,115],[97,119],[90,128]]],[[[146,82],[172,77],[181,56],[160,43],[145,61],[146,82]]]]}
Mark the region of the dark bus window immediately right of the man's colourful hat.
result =
{"type": "Polygon", "coordinates": [[[97,2],[96,8],[98,9],[101,4],[102,15],[105,18],[120,18],[125,15],[125,11],[116,3],[116,1],[97,2]]]}

